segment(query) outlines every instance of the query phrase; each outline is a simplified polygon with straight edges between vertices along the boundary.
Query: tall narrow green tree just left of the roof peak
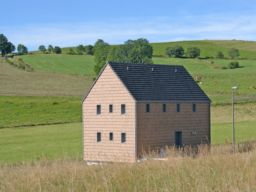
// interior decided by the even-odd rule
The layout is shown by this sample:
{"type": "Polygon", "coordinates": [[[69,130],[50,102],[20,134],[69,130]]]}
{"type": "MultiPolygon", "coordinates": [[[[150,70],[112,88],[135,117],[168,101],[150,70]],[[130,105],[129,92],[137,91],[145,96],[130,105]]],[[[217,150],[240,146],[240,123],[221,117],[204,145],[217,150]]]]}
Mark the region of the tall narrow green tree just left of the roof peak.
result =
{"type": "Polygon", "coordinates": [[[102,39],[98,39],[94,46],[93,46],[93,52],[94,52],[94,72],[96,75],[101,72],[101,69],[106,63],[106,59],[108,57],[110,45],[107,42],[104,42],[102,39]]]}

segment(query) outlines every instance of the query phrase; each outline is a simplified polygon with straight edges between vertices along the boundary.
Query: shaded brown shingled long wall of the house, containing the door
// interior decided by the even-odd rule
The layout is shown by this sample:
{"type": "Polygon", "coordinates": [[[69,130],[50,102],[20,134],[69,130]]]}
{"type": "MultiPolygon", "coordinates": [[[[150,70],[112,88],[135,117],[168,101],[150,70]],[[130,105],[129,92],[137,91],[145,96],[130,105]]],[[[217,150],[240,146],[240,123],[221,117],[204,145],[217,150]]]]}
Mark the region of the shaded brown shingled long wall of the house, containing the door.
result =
{"type": "MultiPolygon", "coordinates": [[[[182,131],[183,145],[208,143],[210,139],[210,104],[180,103],[180,113],[176,112],[177,103],[166,103],[167,112],[162,112],[163,103],[150,103],[150,113],[146,113],[146,103],[137,103],[137,153],[148,148],[174,145],[175,131],[182,131]],[[192,131],[196,131],[192,135],[192,131]],[[208,139],[207,139],[208,138],[208,139]]],[[[138,156],[139,157],[139,156],[138,156]]]]}

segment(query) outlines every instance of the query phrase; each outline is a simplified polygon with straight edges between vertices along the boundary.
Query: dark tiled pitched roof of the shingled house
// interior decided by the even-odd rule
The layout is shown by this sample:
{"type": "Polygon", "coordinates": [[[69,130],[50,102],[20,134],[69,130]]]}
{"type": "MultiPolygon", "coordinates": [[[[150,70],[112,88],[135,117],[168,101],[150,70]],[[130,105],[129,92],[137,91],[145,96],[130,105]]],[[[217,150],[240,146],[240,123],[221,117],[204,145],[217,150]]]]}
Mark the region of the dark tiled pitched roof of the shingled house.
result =
{"type": "Polygon", "coordinates": [[[211,102],[181,65],[108,63],[138,102],[211,102]]]}

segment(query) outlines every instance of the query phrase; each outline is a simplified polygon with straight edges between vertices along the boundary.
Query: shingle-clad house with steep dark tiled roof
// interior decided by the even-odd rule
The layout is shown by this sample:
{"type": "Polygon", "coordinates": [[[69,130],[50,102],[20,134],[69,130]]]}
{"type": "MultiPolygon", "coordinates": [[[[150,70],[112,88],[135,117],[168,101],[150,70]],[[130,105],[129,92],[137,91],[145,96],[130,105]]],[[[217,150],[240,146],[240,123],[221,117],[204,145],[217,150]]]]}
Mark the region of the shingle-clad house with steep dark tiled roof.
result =
{"type": "Polygon", "coordinates": [[[107,62],[81,103],[86,161],[210,143],[211,100],[180,65],[107,62]]]}

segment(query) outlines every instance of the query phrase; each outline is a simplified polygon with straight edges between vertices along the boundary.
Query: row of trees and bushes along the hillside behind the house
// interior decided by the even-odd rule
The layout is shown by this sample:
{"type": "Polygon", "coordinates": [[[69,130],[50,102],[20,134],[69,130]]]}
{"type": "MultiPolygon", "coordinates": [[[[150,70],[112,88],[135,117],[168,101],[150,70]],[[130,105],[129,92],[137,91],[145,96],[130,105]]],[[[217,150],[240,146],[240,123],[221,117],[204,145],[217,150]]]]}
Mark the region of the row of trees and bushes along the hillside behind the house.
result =
{"type": "MultiPolygon", "coordinates": [[[[15,51],[15,46],[8,42],[8,39],[0,34],[0,51],[2,57],[12,53],[15,51]]],[[[19,44],[17,48],[19,53],[27,53],[26,46],[19,44]]],[[[42,53],[46,52],[46,48],[44,45],[40,45],[38,50],[42,53]]],[[[61,54],[61,49],[59,46],[55,46],[53,48],[52,45],[48,45],[48,52],[61,54]]],[[[98,75],[106,61],[117,61],[117,62],[129,62],[129,63],[153,63],[153,47],[149,44],[149,41],[144,38],[139,38],[137,40],[127,40],[122,45],[110,45],[103,41],[102,39],[98,39],[94,46],[92,45],[78,45],[76,47],[76,51],[78,54],[82,55],[85,52],[88,55],[94,55],[94,72],[98,75]]],[[[76,54],[72,48],[69,49],[67,54],[76,54]]],[[[184,54],[187,57],[196,58],[200,56],[200,49],[198,47],[189,47],[187,51],[179,46],[169,46],[165,49],[165,54],[169,57],[181,58],[184,54]]],[[[227,54],[234,59],[238,57],[239,50],[236,48],[231,48],[228,50],[227,54]]],[[[216,54],[216,58],[223,59],[224,54],[221,51],[218,51],[216,54]]]]}

